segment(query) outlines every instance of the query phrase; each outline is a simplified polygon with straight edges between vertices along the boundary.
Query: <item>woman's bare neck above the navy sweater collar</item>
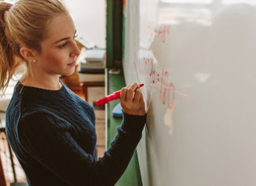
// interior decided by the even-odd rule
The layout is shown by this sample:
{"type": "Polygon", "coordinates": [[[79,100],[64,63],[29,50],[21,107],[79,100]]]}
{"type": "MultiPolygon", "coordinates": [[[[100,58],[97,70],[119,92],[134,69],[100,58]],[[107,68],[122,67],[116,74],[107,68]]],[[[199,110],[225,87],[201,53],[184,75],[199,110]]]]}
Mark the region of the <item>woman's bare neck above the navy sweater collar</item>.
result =
{"type": "Polygon", "coordinates": [[[21,79],[20,83],[25,86],[33,86],[37,88],[47,89],[47,90],[60,90],[61,83],[59,81],[59,75],[46,75],[40,73],[25,73],[21,79]]]}

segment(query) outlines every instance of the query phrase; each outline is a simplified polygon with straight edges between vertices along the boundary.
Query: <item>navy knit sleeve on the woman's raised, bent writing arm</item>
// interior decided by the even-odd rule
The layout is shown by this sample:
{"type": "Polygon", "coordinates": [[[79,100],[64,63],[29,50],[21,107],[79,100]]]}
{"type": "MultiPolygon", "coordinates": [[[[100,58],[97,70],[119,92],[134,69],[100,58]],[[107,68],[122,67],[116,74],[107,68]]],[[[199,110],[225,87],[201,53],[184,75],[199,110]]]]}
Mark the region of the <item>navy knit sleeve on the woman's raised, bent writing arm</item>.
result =
{"type": "Polygon", "coordinates": [[[146,115],[123,115],[115,139],[98,160],[78,145],[70,125],[50,114],[20,120],[19,138],[34,159],[70,186],[113,186],[128,166],[146,121],[146,115]]]}

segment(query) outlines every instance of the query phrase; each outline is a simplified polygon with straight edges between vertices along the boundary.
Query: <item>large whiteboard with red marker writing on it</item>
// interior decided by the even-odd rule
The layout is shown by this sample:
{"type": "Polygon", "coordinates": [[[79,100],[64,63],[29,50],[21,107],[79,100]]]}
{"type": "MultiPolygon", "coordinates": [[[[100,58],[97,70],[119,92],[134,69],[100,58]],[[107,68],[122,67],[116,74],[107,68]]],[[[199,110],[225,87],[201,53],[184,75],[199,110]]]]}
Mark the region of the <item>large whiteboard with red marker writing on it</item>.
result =
{"type": "Polygon", "coordinates": [[[143,186],[256,186],[256,1],[128,0],[126,84],[148,116],[143,186]]]}

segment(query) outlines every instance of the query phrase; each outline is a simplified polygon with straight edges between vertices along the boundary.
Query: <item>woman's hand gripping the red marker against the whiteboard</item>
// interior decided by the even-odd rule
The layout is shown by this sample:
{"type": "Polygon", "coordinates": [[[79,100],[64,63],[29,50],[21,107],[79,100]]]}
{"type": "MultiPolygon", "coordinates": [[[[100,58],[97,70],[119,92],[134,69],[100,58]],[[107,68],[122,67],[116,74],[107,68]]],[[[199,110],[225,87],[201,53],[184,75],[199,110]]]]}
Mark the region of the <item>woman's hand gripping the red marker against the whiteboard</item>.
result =
{"type": "Polygon", "coordinates": [[[141,89],[137,87],[140,87],[137,83],[131,83],[123,87],[120,93],[120,104],[123,112],[130,115],[144,116],[146,114],[145,103],[141,89]]]}

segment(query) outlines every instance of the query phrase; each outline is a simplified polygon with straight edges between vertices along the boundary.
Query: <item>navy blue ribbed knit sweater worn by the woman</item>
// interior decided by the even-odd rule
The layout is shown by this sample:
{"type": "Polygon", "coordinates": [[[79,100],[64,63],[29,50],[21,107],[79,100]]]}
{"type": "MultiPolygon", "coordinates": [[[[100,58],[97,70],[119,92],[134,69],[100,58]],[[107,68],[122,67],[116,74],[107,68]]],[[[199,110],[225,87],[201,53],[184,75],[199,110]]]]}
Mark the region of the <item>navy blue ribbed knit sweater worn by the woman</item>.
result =
{"type": "Polygon", "coordinates": [[[7,139],[28,184],[113,186],[141,139],[146,115],[123,113],[115,140],[97,159],[94,110],[61,84],[60,90],[52,91],[19,81],[7,108],[7,139]]]}

